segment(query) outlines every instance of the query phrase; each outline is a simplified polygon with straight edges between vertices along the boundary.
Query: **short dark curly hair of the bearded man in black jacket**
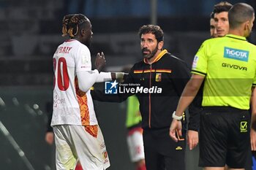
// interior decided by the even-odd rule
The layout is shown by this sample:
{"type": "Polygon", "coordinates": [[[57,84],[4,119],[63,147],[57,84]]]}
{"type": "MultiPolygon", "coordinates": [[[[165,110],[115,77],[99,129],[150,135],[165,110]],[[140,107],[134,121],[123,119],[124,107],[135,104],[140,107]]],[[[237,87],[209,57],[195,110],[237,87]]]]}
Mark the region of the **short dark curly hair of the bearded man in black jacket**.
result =
{"type": "Polygon", "coordinates": [[[139,30],[139,36],[141,37],[142,34],[154,34],[156,36],[157,42],[162,42],[164,40],[164,32],[162,31],[162,28],[155,25],[146,25],[140,27],[139,30]]]}

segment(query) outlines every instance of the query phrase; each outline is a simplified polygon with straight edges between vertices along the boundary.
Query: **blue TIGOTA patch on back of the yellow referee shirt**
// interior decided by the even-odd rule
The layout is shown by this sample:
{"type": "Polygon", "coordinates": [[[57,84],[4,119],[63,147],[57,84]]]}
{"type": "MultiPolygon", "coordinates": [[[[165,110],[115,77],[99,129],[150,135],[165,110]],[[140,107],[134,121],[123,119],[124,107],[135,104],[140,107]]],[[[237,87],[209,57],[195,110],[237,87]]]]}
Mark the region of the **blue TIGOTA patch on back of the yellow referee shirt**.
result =
{"type": "Polygon", "coordinates": [[[224,47],[224,57],[247,62],[249,58],[249,51],[224,47]]]}

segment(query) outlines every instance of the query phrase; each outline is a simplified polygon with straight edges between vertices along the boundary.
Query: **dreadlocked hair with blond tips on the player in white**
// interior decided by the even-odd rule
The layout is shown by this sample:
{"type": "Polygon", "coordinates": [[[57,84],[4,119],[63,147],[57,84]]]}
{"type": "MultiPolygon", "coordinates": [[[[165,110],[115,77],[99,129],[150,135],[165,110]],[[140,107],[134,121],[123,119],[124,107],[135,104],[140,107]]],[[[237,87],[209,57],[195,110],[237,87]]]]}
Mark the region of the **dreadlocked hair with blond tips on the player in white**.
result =
{"type": "Polygon", "coordinates": [[[79,25],[87,20],[86,16],[82,14],[65,15],[62,20],[62,36],[67,34],[70,37],[76,36],[79,25]]]}

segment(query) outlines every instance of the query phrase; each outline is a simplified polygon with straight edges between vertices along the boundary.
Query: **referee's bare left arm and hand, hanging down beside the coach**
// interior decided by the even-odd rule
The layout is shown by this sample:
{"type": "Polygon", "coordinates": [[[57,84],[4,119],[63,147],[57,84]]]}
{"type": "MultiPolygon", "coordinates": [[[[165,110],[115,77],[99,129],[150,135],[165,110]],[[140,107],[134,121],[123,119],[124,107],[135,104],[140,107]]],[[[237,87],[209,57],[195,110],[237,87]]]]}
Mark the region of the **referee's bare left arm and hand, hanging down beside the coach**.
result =
{"type": "MultiPolygon", "coordinates": [[[[181,98],[178,101],[178,107],[176,109],[176,116],[181,117],[185,109],[189,107],[189,104],[192,103],[193,99],[197,95],[197,92],[202,85],[204,76],[200,74],[192,74],[191,79],[187,82],[186,87],[181,94],[181,98]]],[[[173,121],[170,125],[170,137],[174,141],[178,141],[176,137],[176,130],[178,130],[178,135],[181,136],[181,122],[173,118],[173,121]]]]}

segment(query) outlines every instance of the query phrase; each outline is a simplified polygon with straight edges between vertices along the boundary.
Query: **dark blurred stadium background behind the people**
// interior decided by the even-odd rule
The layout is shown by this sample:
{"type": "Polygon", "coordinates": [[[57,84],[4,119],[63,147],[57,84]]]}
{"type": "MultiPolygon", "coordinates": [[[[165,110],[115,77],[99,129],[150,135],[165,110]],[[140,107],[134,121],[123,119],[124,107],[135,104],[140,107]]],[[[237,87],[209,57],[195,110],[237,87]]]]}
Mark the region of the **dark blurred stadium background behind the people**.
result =
{"type": "MultiPolygon", "coordinates": [[[[61,20],[83,13],[92,23],[92,61],[99,51],[106,71],[141,59],[138,28],[155,23],[165,48],[190,66],[209,38],[209,15],[216,0],[0,0],[0,169],[50,170],[53,146],[45,142],[46,103],[52,99],[52,56],[63,42],[61,20]]],[[[246,2],[256,7],[255,0],[246,2]]],[[[255,43],[255,33],[249,41],[255,43]]],[[[100,87],[100,85],[99,85],[100,87]]],[[[97,116],[110,170],[132,170],[126,143],[125,104],[99,103],[97,116]]],[[[197,168],[197,149],[187,152],[187,169],[197,168]]]]}

